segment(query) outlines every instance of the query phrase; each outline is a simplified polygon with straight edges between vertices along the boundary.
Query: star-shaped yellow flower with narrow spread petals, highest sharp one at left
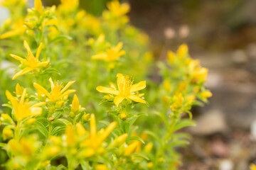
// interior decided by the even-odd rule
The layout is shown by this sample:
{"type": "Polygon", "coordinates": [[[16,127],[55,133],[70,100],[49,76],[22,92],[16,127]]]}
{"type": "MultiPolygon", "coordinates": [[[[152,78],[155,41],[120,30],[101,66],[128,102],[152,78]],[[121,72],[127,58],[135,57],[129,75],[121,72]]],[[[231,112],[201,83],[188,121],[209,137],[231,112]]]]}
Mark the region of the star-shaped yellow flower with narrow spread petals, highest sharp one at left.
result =
{"type": "Polygon", "coordinates": [[[20,72],[16,73],[13,77],[13,79],[16,79],[17,77],[20,77],[23,74],[26,74],[28,72],[31,72],[34,69],[38,69],[39,67],[46,67],[48,66],[48,64],[50,63],[49,61],[47,62],[39,62],[38,58],[40,55],[40,52],[42,50],[42,46],[43,43],[41,43],[38,47],[38,50],[36,52],[36,57],[33,55],[33,53],[31,52],[30,47],[28,46],[28,43],[26,42],[26,40],[24,40],[24,47],[26,48],[27,52],[28,52],[28,56],[26,56],[26,60],[23,59],[22,57],[18,57],[17,55],[12,55],[11,57],[13,57],[14,59],[18,60],[21,62],[21,64],[25,64],[26,68],[22,69],[20,72]]]}

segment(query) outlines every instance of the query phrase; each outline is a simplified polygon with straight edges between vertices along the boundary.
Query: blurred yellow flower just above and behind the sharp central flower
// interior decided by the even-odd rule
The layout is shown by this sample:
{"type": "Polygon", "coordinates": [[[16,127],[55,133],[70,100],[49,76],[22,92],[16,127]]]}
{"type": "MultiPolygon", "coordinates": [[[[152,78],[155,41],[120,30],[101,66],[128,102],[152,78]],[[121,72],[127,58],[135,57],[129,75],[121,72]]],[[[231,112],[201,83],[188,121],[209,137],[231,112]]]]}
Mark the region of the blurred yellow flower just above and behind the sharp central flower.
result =
{"type": "Polygon", "coordinates": [[[119,42],[117,46],[107,49],[106,52],[98,52],[97,55],[92,56],[92,60],[103,60],[105,62],[113,62],[122,55],[125,55],[124,50],[121,50],[122,45],[122,42],[119,42]]]}

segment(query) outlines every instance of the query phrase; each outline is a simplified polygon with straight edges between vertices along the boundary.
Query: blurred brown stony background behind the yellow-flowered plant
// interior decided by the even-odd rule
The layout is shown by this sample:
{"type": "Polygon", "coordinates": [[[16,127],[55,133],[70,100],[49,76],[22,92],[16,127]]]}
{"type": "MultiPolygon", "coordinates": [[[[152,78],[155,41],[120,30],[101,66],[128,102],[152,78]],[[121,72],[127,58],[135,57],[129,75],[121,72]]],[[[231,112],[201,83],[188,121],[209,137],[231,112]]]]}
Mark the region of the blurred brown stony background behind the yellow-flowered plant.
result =
{"type": "MultiPolygon", "coordinates": [[[[193,139],[181,149],[186,170],[243,170],[256,161],[256,1],[129,0],[131,23],[151,38],[156,60],[186,42],[209,69],[210,103],[193,108],[193,139]]],[[[28,3],[33,6],[33,0],[28,3]]],[[[58,0],[43,0],[45,6],[58,0]]],[[[100,15],[107,0],[80,0],[100,15]]],[[[0,19],[5,18],[1,11],[0,19]]],[[[256,162],[255,162],[256,163],[256,162]]]]}

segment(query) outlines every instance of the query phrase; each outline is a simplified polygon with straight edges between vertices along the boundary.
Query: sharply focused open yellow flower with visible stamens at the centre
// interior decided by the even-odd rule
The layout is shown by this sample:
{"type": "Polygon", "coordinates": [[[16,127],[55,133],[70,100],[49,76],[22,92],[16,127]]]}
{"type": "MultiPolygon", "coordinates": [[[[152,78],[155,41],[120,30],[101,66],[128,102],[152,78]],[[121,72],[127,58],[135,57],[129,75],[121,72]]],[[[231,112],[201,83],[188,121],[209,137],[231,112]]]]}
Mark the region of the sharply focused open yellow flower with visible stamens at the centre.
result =
{"type": "Polygon", "coordinates": [[[146,81],[140,81],[137,84],[133,84],[133,81],[129,76],[123,76],[123,74],[117,74],[117,86],[118,90],[114,88],[97,86],[97,91],[105,94],[114,94],[114,104],[118,107],[119,103],[121,103],[124,98],[128,98],[132,101],[136,101],[139,103],[146,103],[142,98],[133,94],[135,91],[140,91],[146,88],[146,81]]]}

